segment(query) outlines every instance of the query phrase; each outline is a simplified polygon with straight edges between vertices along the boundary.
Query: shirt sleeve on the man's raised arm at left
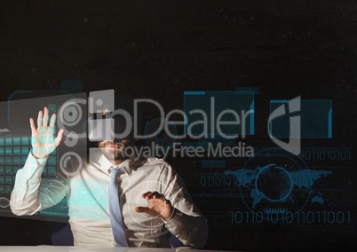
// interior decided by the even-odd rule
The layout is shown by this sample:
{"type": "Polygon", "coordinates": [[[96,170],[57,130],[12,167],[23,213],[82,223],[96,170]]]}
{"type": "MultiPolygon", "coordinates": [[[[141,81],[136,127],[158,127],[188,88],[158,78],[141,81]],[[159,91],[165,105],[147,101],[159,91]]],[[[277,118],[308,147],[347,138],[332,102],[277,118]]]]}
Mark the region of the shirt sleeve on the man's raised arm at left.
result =
{"type": "Polygon", "coordinates": [[[36,159],[30,152],[24,167],[16,173],[10,199],[10,208],[14,215],[34,215],[56,205],[67,194],[67,179],[41,179],[46,161],[47,158],[36,159]]]}

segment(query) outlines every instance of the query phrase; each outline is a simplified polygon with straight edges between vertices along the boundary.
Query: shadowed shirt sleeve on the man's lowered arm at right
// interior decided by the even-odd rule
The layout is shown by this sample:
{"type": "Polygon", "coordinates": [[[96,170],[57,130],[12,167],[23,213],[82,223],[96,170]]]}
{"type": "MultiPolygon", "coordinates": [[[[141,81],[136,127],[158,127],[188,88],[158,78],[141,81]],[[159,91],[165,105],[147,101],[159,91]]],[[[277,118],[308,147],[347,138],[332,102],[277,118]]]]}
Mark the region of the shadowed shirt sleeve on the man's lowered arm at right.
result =
{"type": "MultiPolygon", "coordinates": [[[[166,177],[165,197],[174,207],[174,216],[165,222],[165,227],[175,235],[184,245],[203,248],[207,241],[208,226],[201,212],[194,205],[194,201],[186,191],[178,173],[170,165],[163,173],[166,177]]],[[[163,181],[163,180],[162,180],[163,181]]]]}

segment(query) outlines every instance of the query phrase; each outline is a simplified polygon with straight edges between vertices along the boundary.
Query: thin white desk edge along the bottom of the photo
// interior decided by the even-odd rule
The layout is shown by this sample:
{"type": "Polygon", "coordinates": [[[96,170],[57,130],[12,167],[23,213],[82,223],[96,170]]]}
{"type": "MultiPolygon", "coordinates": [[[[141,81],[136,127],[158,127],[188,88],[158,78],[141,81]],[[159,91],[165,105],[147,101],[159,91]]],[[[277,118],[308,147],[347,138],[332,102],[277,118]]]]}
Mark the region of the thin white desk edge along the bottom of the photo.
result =
{"type": "Polygon", "coordinates": [[[107,248],[107,247],[59,247],[59,246],[0,246],[9,252],[223,252],[223,250],[198,250],[190,248],[107,248]]]}

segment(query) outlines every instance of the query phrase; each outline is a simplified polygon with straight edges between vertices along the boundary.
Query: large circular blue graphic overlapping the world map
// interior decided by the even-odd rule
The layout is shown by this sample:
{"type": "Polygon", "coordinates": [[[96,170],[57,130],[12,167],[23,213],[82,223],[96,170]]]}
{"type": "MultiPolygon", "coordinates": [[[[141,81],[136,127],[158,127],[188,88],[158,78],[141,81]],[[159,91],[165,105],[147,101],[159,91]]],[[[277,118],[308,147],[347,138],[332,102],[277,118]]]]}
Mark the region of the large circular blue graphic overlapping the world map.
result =
{"type": "Polygon", "coordinates": [[[282,149],[256,153],[234,174],[242,201],[256,213],[282,214],[283,218],[284,213],[303,209],[314,191],[305,161],[282,149]]]}

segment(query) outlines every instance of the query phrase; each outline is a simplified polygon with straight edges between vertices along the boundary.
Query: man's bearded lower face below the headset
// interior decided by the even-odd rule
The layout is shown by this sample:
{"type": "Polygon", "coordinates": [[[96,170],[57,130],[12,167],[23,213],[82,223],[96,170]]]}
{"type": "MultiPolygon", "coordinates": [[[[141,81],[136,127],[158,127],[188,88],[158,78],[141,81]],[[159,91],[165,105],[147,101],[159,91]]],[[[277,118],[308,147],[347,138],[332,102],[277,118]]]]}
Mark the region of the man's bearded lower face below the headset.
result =
{"type": "Polygon", "coordinates": [[[100,151],[104,154],[107,160],[112,162],[124,161],[130,158],[131,155],[128,155],[128,152],[125,151],[129,146],[133,146],[133,141],[125,140],[119,143],[115,143],[114,141],[99,142],[100,151]]]}

